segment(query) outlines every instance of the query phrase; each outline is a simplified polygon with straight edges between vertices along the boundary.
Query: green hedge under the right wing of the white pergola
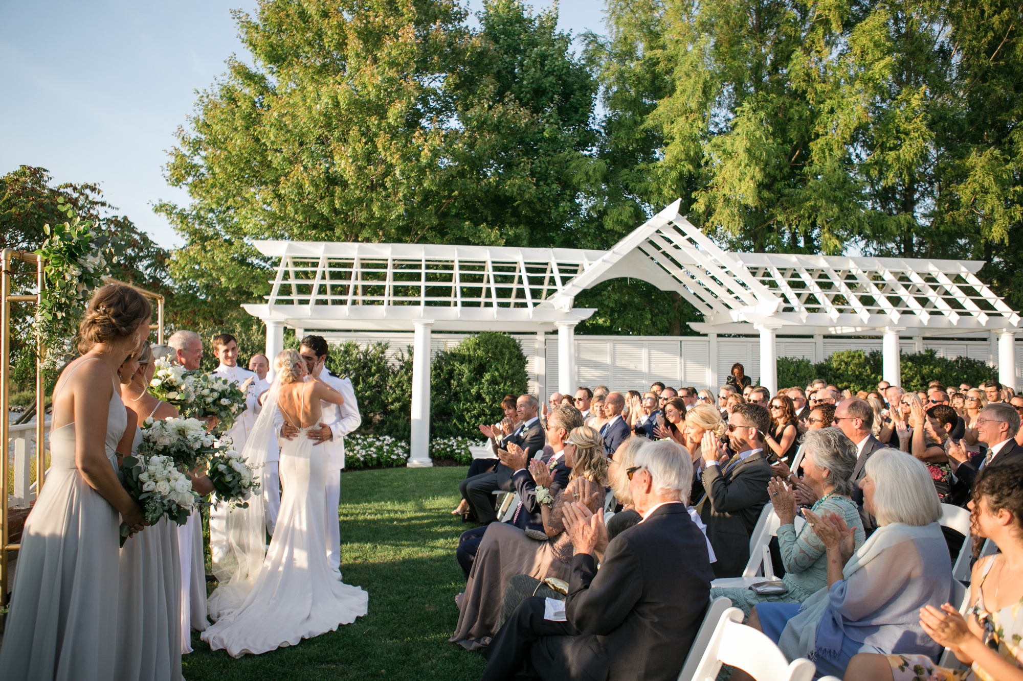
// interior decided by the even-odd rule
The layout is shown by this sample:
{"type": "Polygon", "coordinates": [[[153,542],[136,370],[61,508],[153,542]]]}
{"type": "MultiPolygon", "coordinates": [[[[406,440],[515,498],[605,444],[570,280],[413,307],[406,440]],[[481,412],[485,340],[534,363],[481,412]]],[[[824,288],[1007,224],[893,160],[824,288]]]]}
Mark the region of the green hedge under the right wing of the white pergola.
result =
{"type": "MultiPolygon", "coordinates": [[[[874,391],[881,381],[882,354],[873,350],[845,350],[837,352],[824,362],[807,359],[780,357],[777,359],[777,384],[781,387],[805,387],[814,378],[822,378],[838,385],[839,390],[874,391]]],[[[995,380],[997,370],[985,362],[957,357],[938,357],[933,350],[902,355],[901,387],[905,390],[921,391],[931,380],[940,380],[945,385],[959,387],[960,383],[979,385],[987,380],[995,380]]]]}

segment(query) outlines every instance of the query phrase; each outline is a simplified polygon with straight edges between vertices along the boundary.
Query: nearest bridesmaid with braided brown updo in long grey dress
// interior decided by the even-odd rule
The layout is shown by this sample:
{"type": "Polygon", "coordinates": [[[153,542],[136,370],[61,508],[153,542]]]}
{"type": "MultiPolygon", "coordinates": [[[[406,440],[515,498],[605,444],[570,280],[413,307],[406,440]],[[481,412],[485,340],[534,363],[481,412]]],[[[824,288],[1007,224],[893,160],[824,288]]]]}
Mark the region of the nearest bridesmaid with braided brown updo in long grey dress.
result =
{"type": "Polygon", "coordinates": [[[127,427],[117,371],[148,332],[148,301],[130,286],[96,291],[79,328],[84,353],[53,391],[50,468],[25,524],[0,648],[4,681],[106,681],[114,674],[118,526],[143,528],[118,481],[127,427]]]}

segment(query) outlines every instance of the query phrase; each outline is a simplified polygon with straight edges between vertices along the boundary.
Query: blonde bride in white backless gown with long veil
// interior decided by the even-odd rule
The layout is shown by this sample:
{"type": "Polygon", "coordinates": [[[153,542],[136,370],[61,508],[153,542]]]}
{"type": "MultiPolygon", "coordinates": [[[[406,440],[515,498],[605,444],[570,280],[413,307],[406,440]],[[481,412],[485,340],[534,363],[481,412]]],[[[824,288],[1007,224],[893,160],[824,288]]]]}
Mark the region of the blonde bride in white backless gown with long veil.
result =
{"type": "MultiPolygon", "coordinates": [[[[321,400],[344,402],[326,383],[307,378],[305,363],[294,350],[279,353],[274,368],[277,377],[242,451],[254,465],[265,462],[266,452],[276,446],[276,410],[304,432],[319,423],[321,400]]],[[[327,563],[326,465],[326,450],[312,440],[300,436],[281,441],[284,491],[265,554],[262,495],[254,495],[249,508],[228,513],[233,569],[210,596],[210,615],[217,621],[202,635],[214,650],[223,648],[234,657],[259,654],[333,631],[366,614],[368,594],[338,581],[327,563]]]]}

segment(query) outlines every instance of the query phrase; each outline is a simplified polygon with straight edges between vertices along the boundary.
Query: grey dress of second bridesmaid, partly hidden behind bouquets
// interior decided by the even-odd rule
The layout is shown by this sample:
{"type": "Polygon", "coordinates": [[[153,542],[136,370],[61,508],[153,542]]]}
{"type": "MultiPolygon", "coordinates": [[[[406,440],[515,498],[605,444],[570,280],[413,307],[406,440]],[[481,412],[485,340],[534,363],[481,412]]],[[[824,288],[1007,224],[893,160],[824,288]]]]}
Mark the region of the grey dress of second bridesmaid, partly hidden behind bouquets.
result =
{"type": "MultiPolygon", "coordinates": [[[[138,453],[141,442],[142,429],[136,427],[132,454],[138,453]]],[[[181,681],[181,559],[176,528],[165,515],[121,547],[115,681],[181,681]]]]}

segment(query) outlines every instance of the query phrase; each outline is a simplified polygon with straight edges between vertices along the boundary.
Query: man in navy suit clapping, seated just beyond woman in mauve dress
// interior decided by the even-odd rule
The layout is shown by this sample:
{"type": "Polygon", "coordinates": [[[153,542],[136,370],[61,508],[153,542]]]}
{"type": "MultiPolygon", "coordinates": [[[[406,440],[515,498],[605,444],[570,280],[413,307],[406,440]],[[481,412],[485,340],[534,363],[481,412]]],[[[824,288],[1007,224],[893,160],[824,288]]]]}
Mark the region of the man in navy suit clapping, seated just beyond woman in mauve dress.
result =
{"type": "MultiPolygon", "coordinates": [[[[569,484],[569,474],[572,469],[565,465],[565,441],[569,439],[569,434],[580,425],[582,425],[582,414],[571,405],[559,405],[547,415],[547,442],[553,453],[549,457],[541,458],[540,461],[547,467],[553,466],[550,471],[554,479],[550,484],[551,497],[569,484]]],[[[511,482],[516,492],[519,493],[520,503],[508,523],[523,531],[532,529],[543,534],[540,504],[536,501],[536,482],[528,468],[529,457],[532,456],[533,452],[514,444],[509,444],[509,448],[510,450],[506,452],[501,450],[500,457],[503,464],[514,471],[511,482]]],[[[465,573],[466,580],[486,531],[487,526],[474,528],[461,533],[461,537],[458,538],[455,557],[458,559],[462,572],[465,573]]]]}

